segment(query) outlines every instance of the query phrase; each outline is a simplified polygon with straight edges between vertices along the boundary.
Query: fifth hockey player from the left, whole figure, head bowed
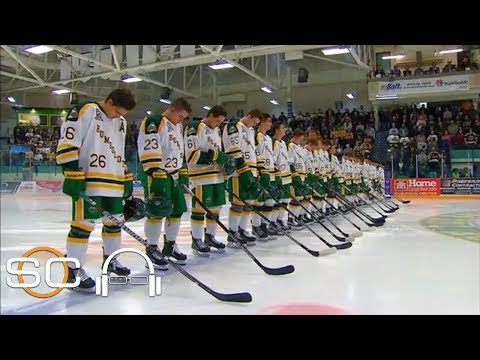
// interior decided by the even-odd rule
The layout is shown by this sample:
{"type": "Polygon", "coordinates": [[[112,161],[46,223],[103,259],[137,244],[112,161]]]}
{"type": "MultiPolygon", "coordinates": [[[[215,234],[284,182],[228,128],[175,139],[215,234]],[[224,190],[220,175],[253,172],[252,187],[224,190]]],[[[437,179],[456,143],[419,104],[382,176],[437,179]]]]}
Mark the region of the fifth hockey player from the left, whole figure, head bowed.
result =
{"type": "MultiPolygon", "coordinates": [[[[275,194],[277,185],[275,183],[275,167],[273,163],[273,144],[272,138],[267,135],[271,128],[272,118],[269,114],[263,114],[255,135],[255,146],[260,185],[268,192],[274,191],[275,194]]],[[[274,204],[275,201],[271,197],[261,194],[254,206],[257,212],[261,212],[263,216],[271,221],[274,204]]],[[[269,227],[269,225],[269,222],[257,213],[252,214],[252,231],[257,239],[262,241],[275,240],[278,235],[284,234],[283,230],[277,230],[276,227],[269,227]],[[280,234],[278,231],[280,231],[280,234]]]]}

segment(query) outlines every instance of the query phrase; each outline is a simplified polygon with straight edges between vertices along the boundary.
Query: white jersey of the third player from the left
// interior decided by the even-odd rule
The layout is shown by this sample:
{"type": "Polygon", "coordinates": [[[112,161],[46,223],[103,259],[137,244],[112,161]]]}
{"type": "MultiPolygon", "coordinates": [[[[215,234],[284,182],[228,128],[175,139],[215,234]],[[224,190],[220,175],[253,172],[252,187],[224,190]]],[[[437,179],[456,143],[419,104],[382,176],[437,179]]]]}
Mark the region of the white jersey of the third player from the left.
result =
{"type": "Polygon", "coordinates": [[[211,129],[202,121],[189,124],[185,129],[185,158],[192,186],[224,182],[220,165],[209,161],[209,150],[222,150],[220,129],[211,129]]]}

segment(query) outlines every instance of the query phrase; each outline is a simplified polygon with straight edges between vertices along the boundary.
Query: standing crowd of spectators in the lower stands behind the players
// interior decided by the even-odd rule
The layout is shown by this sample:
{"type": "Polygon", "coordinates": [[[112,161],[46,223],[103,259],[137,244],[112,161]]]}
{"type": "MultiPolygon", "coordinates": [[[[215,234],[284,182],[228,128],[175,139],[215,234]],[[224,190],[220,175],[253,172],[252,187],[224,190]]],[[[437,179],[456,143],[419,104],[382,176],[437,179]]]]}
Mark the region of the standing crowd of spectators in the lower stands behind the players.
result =
{"type": "MultiPolygon", "coordinates": [[[[419,176],[435,176],[440,173],[441,159],[450,166],[450,144],[479,144],[479,113],[460,106],[421,107],[402,106],[391,111],[378,112],[380,128],[375,129],[374,114],[361,105],[352,111],[298,112],[287,117],[285,113],[272,114],[273,122],[281,121],[286,129],[286,140],[295,129],[302,129],[308,138],[329,140],[338,156],[354,155],[371,158],[378,131],[388,131],[388,151],[393,155],[397,170],[410,176],[416,175],[418,158],[419,176]],[[417,157],[418,156],[418,157],[417,157]]],[[[229,119],[232,120],[232,119],[229,119]]],[[[130,123],[126,134],[127,163],[137,161],[138,125],[130,123]]],[[[13,132],[13,143],[28,145],[25,155],[34,165],[55,161],[55,149],[60,138],[60,127],[21,127],[13,132]]],[[[8,165],[8,159],[4,163],[8,165]]]]}

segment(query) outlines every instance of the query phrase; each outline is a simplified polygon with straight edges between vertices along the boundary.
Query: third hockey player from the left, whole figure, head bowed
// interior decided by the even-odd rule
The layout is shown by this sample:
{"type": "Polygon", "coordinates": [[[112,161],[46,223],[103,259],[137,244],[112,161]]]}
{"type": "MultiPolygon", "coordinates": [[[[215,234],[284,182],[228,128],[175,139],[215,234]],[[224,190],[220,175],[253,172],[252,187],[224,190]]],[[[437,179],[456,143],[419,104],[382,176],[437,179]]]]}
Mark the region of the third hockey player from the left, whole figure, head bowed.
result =
{"type": "MultiPolygon", "coordinates": [[[[219,125],[227,113],[221,106],[212,107],[205,119],[188,124],[185,129],[185,158],[192,190],[203,205],[218,219],[222,205],[225,205],[225,176],[235,171],[235,160],[222,151],[219,125]]],[[[205,210],[192,199],[190,217],[192,249],[199,255],[208,255],[210,248],[225,251],[225,244],[215,239],[217,223],[207,214],[205,242],[205,210]]]]}

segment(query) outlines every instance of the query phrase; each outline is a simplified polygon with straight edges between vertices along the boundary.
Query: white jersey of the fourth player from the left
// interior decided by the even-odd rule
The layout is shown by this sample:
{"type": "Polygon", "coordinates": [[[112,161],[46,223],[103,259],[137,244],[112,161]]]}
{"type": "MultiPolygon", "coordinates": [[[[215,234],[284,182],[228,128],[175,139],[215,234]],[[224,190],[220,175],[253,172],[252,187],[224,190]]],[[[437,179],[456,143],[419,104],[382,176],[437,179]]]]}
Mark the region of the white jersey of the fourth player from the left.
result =
{"type": "MultiPolygon", "coordinates": [[[[222,140],[225,153],[234,159],[243,158],[253,176],[257,176],[255,130],[241,121],[229,123],[223,129],[222,140]]],[[[233,175],[238,173],[235,171],[233,175]]]]}

